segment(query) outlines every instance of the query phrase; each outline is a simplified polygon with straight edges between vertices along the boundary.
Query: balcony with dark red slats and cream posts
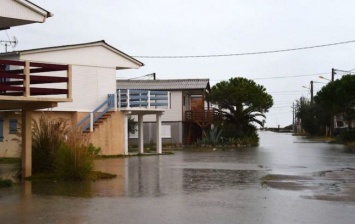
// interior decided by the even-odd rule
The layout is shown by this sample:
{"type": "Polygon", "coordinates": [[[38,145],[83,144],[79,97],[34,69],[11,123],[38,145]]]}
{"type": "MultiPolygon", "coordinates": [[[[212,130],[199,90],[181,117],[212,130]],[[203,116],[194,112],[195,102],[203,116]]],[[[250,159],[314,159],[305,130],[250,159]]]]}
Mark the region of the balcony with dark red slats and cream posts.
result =
{"type": "Polygon", "coordinates": [[[0,60],[0,110],[40,109],[72,101],[71,66],[0,60]]]}

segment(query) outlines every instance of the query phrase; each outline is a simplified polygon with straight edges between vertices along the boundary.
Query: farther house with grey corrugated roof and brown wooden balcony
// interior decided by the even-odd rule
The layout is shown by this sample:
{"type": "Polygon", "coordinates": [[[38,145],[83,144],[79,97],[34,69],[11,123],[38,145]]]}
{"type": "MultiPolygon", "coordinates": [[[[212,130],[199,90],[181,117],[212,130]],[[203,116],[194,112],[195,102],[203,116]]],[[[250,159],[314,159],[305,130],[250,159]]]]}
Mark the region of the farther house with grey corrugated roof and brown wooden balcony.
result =
{"type": "MultiPolygon", "coordinates": [[[[117,89],[170,92],[169,108],[162,115],[165,143],[192,144],[213,122],[213,110],[205,100],[210,91],[208,79],[117,80],[116,83],[117,89]]],[[[155,117],[146,115],[143,120],[144,133],[147,133],[144,142],[149,143],[156,139],[155,117]]],[[[131,135],[130,142],[136,144],[137,137],[137,134],[131,135]]]]}

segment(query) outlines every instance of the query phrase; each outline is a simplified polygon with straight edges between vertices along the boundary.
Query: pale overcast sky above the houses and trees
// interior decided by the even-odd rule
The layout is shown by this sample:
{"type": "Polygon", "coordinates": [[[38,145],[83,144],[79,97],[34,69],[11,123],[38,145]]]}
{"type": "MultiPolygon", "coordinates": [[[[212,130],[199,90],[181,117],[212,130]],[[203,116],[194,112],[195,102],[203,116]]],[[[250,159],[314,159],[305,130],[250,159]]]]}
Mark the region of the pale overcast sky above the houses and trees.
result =
{"type": "MultiPolygon", "coordinates": [[[[307,47],[355,40],[353,0],[32,0],[52,12],[44,24],[0,31],[15,50],[105,40],[131,56],[216,55],[307,47]]],[[[0,46],[0,51],[4,47],[0,46]]],[[[331,68],[355,68],[355,43],[275,54],[137,58],[145,66],[118,71],[134,78],[209,78],[211,85],[242,76],[266,87],[274,107],[267,127],[292,123],[292,103],[309,97],[311,80],[331,68]],[[298,77],[292,77],[298,76],[298,77]],[[284,77],[284,78],[275,78],[284,77]]],[[[340,78],[341,74],[336,78],[340,78]]],[[[323,84],[314,85],[319,90],[323,84]]]]}

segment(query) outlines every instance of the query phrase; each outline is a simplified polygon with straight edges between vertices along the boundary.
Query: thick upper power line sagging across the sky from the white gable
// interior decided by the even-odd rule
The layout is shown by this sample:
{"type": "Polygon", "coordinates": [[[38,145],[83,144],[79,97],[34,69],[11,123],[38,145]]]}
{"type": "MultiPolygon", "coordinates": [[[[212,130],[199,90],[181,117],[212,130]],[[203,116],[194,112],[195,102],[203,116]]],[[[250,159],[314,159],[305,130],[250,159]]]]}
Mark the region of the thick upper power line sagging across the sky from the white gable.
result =
{"type": "Polygon", "coordinates": [[[288,48],[282,50],[270,50],[270,51],[257,51],[257,52],[246,52],[246,53],[232,53],[232,54],[211,54],[211,55],[177,55],[177,56],[133,56],[136,58],[159,58],[159,59],[172,59],[172,58],[212,58],[212,57],[232,57],[232,56],[245,56],[245,55],[258,55],[258,54],[273,54],[273,53],[281,53],[281,52],[288,52],[288,51],[299,51],[299,50],[308,50],[314,48],[321,48],[321,47],[330,47],[335,45],[342,45],[342,44],[350,44],[354,43],[355,40],[331,43],[331,44],[321,44],[321,45],[314,45],[308,47],[297,47],[297,48],[288,48]]]}

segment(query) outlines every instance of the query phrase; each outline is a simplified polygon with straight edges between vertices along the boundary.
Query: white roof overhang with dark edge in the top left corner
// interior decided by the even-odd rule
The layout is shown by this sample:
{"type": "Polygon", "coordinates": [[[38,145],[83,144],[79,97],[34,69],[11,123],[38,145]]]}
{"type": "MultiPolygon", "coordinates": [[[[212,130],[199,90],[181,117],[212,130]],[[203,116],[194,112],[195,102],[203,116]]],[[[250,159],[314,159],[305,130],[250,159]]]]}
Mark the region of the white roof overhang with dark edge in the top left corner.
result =
{"type": "Polygon", "coordinates": [[[43,23],[53,14],[27,0],[2,0],[0,30],[31,23],[43,23]]]}

